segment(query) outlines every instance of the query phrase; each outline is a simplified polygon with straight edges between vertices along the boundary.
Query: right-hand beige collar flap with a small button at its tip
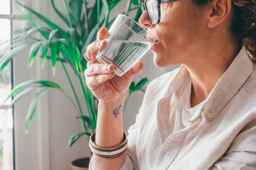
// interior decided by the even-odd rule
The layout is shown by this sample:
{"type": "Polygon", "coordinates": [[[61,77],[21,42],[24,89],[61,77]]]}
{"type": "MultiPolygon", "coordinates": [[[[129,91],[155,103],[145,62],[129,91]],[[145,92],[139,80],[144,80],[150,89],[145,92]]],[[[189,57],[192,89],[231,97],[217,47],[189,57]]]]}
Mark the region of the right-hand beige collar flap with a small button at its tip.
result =
{"type": "Polygon", "coordinates": [[[207,121],[212,121],[231,98],[236,95],[249,75],[251,75],[253,68],[254,64],[247,55],[245,46],[243,46],[202,106],[204,117],[207,121]]]}

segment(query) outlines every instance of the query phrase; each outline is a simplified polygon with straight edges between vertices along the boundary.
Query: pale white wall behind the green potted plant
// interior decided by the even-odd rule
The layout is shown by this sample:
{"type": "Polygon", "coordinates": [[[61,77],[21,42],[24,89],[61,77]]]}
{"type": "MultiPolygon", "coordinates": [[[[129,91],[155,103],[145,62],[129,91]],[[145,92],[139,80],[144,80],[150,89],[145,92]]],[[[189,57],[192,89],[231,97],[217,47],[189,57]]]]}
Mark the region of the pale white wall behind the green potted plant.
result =
{"type": "MultiPolygon", "coordinates": [[[[23,0],[25,4],[31,5],[33,9],[43,13],[51,20],[59,21],[50,7],[49,0],[23,0]]],[[[59,7],[62,7],[62,0],[58,0],[59,7]]],[[[126,1],[117,8],[116,14],[124,11],[126,1]]],[[[18,12],[15,10],[15,12],[18,12]]],[[[112,15],[116,15],[112,13],[112,15]]],[[[59,22],[63,25],[62,22],[59,22]]],[[[25,27],[25,21],[15,22],[14,28],[25,27]]],[[[61,87],[72,95],[69,84],[65,81],[65,74],[61,65],[57,65],[56,76],[52,76],[50,63],[44,70],[40,69],[40,60],[36,60],[32,68],[27,68],[27,51],[24,51],[15,58],[15,84],[29,79],[50,79],[57,82],[61,87]]],[[[148,52],[143,58],[144,71],[135,77],[138,81],[141,77],[148,77],[149,82],[155,77],[162,75],[166,70],[160,69],[153,64],[153,55],[148,52]]],[[[72,81],[76,89],[79,83],[75,77],[72,81]]],[[[31,123],[29,134],[25,135],[24,125],[27,108],[34,94],[27,95],[15,107],[15,137],[16,137],[16,170],[70,170],[69,163],[79,157],[89,156],[88,143],[80,139],[72,148],[67,149],[67,141],[74,132],[83,131],[83,128],[70,103],[58,91],[51,91],[45,95],[38,105],[34,119],[31,123]]],[[[135,121],[144,93],[137,92],[132,95],[124,113],[124,130],[135,121]]],[[[82,95],[79,96],[82,98],[82,95]]]]}

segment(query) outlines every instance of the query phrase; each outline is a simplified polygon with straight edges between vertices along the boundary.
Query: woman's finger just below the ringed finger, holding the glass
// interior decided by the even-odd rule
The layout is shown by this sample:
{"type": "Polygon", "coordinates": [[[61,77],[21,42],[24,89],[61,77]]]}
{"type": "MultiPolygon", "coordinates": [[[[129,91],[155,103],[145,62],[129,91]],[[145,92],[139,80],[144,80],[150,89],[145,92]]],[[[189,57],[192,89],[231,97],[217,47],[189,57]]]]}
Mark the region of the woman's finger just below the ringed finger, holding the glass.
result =
{"type": "Polygon", "coordinates": [[[109,74],[114,72],[114,70],[115,67],[113,65],[95,63],[88,66],[88,68],[84,72],[84,75],[85,77],[90,77],[99,74],[109,74]]]}

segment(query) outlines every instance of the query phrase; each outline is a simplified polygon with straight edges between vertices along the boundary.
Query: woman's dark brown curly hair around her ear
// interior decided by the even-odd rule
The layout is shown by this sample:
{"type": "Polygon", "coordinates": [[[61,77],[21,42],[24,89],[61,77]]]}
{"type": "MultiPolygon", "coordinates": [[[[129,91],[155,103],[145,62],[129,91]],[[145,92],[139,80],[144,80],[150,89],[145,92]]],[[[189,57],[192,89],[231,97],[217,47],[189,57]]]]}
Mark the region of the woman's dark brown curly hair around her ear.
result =
{"type": "MultiPolygon", "coordinates": [[[[202,8],[211,0],[191,0],[202,8]]],[[[230,33],[236,43],[245,44],[249,56],[256,62],[256,0],[232,0],[230,33]]]]}

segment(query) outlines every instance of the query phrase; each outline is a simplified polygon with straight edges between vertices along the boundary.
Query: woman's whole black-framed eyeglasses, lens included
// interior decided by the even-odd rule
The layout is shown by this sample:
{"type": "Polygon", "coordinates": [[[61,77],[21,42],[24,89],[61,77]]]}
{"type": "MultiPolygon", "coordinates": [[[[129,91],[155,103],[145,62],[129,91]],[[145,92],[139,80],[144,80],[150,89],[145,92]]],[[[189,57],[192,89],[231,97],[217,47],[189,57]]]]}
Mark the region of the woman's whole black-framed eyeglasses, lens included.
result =
{"type": "MultiPolygon", "coordinates": [[[[179,0],[141,0],[140,7],[141,12],[143,13],[146,10],[148,15],[148,19],[152,22],[152,24],[157,24],[160,21],[160,4],[166,2],[174,2],[179,0]]],[[[236,6],[242,7],[243,5],[239,5],[234,0],[231,0],[236,6]]]]}

